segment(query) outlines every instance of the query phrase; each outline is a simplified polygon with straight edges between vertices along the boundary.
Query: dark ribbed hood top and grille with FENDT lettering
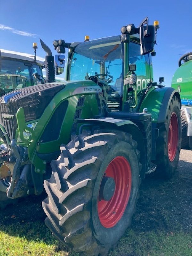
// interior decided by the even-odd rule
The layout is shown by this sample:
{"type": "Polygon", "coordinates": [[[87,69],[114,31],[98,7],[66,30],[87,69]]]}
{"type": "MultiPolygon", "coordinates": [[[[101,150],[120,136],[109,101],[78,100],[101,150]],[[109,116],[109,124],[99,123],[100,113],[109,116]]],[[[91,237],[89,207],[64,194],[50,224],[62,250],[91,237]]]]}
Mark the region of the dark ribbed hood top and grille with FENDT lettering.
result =
{"type": "Polygon", "coordinates": [[[10,140],[17,129],[17,110],[24,109],[25,122],[39,119],[57,93],[65,89],[63,97],[77,94],[102,92],[102,88],[92,80],[64,81],[35,85],[7,93],[0,98],[0,125],[4,127],[10,140]]]}

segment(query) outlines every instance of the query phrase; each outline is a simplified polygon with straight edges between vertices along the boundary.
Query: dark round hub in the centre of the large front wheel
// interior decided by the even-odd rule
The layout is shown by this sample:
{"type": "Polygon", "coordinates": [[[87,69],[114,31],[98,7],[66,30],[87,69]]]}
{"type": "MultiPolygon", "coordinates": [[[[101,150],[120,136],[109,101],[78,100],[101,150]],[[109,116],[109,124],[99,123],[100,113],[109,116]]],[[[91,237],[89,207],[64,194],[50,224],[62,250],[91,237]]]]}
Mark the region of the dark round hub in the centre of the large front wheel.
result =
{"type": "Polygon", "coordinates": [[[109,201],[115,191],[115,180],[112,177],[103,176],[101,181],[99,200],[109,201]]]}

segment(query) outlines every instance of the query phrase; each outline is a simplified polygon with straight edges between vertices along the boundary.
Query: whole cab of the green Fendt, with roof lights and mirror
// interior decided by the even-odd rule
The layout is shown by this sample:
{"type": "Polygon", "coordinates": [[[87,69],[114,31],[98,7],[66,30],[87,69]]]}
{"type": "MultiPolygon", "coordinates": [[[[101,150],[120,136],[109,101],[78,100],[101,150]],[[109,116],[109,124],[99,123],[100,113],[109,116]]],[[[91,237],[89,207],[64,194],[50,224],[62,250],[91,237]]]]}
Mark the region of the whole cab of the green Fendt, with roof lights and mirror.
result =
{"type": "Polygon", "coordinates": [[[136,112],[148,84],[153,82],[151,52],[158,28],[158,23],[149,26],[146,17],[139,28],[123,26],[121,36],[96,40],[85,36],[82,43],[55,40],[53,45],[58,53],[69,48],[67,81],[92,80],[107,93],[109,112],[136,112]]]}

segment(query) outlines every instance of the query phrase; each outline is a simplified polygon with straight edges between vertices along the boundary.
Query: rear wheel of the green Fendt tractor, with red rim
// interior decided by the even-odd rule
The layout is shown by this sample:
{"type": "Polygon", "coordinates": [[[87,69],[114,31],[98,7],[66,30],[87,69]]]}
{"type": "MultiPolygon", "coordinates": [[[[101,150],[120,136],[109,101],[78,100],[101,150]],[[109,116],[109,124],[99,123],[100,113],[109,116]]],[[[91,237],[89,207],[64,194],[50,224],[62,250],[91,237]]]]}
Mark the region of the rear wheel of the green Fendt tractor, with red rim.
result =
{"type": "Polygon", "coordinates": [[[181,148],[180,103],[173,96],[164,124],[159,127],[157,139],[157,173],[164,179],[170,179],[177,169],[181,148]]]}

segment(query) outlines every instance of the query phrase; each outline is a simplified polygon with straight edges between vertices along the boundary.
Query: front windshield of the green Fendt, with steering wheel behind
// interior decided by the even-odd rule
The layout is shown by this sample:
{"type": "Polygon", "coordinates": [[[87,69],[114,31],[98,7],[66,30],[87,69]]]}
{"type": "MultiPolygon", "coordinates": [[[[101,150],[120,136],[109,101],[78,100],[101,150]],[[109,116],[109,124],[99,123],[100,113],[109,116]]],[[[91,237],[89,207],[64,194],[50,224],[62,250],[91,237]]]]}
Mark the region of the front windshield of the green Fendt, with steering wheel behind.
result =
{"type": "MultiPolygon", "coordinates": [[[[69,80],[87,80],[98,74],[116,88],[123,70],[123,49],[120,36],[84,42],[74,50],[69,62],[69,80]],[[110,79],[111,77],[111,79],[110,79]]],[[[118,85],[120,90],[121,84],[118,85]]]]}

